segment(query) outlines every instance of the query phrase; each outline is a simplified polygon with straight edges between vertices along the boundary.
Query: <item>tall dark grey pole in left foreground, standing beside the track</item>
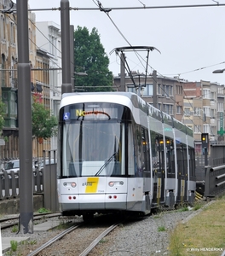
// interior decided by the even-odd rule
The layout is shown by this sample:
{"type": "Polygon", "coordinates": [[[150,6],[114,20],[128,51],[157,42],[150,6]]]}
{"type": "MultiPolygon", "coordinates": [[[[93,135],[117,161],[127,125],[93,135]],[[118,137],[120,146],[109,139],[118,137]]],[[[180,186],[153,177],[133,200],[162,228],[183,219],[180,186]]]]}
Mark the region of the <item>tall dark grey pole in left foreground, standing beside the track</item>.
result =
{"type": "Polygon", "coordinates": [[[27,0],[16,1],[18,33],[18,120],[20,150],[20,233],[33,233],[32,101],[27,0]]]}

